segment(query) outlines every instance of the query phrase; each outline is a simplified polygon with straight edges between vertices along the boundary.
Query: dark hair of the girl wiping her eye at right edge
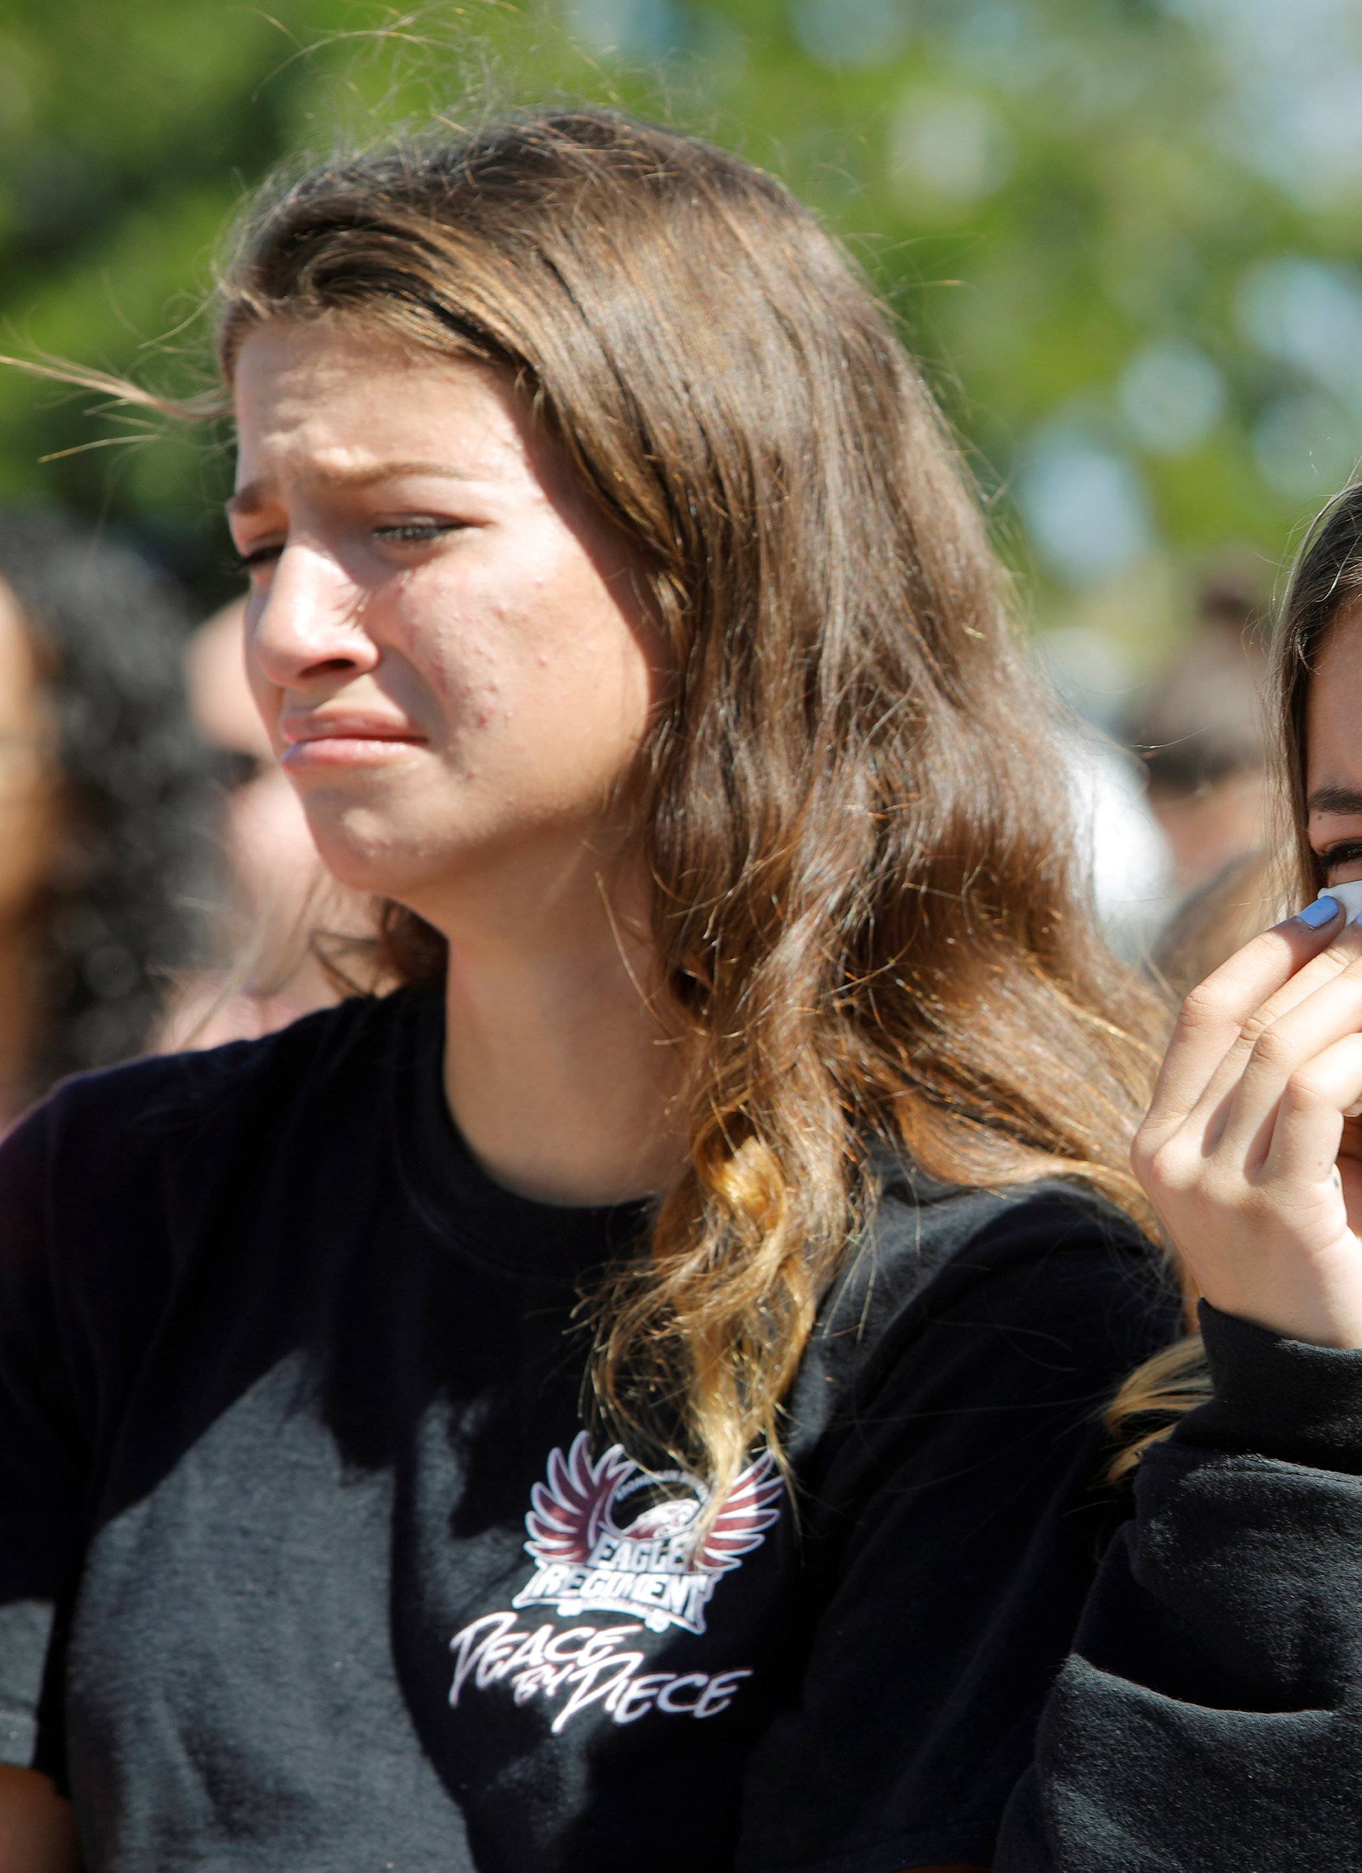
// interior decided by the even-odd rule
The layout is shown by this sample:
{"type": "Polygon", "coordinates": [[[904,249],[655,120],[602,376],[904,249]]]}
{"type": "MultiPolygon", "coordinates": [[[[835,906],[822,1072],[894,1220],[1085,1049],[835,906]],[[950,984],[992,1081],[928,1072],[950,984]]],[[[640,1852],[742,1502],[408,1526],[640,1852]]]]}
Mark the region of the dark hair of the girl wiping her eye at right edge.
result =
{"type": "Polygon", "coordinates": [[[1281,738],[1281,789],[1289,824],[1283,847],[1295,860],[1287,893],[1311,897],[1325,867],[1310,850],[1306,830],[1306,708],[1315,665],[1345,611],[1362,603],[1362,481],[1351,483],[1315,517],[1306,534],[1281,607],[1272,672],[1281,738]]]}

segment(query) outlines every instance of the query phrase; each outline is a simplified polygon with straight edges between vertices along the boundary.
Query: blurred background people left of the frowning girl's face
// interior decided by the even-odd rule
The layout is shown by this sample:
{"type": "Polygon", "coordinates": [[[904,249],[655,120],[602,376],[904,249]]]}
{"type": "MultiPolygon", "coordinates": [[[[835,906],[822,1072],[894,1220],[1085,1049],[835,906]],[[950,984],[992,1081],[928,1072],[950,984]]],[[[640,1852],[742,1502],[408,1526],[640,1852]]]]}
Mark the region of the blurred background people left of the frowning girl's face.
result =
{"type": "Polygon", "coordinates": [[[107,526],[0,511],[0,1131],[66,1073],[247,1038],[341,993],[322,888],[242,667],[107,526]]]}

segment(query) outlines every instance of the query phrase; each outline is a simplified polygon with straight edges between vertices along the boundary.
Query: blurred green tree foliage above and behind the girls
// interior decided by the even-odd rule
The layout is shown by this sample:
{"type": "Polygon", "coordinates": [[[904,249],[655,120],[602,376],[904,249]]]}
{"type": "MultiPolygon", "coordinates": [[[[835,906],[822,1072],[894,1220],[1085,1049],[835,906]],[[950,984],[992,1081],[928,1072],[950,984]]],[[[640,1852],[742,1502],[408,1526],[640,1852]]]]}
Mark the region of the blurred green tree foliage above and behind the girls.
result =
{"type": "MultiPolygon", "coordinates": [[[[1042,614],[1141,654],[1207,554],[1270,579],[1358,448],[1362,24],[1298,4],[0,0],[0,350],[193,388],[214,251],[290,152],[468,97],[620,103],[826,215],[1042,614]]],[[[0,373],[0,498],[133,523],[204,601],[227,455],[0,373]]]]}

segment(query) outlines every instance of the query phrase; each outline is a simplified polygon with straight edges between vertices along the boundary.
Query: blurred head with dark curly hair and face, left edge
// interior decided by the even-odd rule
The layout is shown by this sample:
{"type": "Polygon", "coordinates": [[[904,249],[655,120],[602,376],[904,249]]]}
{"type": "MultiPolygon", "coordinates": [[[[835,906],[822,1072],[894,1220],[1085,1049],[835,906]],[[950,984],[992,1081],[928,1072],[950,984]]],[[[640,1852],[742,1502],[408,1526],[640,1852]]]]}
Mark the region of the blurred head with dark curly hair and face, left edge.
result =
{"type": "Polygon", "coordinates": [[[0,1113],[139,1053],[197,961],[210,764],[184,631],[131,547],[0,513],[0,1113]]]}

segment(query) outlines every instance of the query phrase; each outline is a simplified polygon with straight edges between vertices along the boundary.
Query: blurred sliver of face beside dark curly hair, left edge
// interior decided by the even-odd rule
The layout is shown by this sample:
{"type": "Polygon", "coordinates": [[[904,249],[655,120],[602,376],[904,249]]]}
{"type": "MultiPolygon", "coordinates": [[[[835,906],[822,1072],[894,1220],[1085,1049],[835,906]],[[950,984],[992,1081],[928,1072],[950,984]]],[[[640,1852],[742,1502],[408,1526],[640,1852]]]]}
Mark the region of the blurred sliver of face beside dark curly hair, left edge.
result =
{"type": "Polygon", "coordinates": [[[28,622],[0,579],[0,933],[51,871],[56,839],[51,723],[28,622]]]}

